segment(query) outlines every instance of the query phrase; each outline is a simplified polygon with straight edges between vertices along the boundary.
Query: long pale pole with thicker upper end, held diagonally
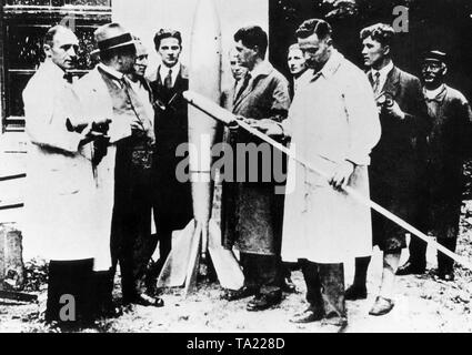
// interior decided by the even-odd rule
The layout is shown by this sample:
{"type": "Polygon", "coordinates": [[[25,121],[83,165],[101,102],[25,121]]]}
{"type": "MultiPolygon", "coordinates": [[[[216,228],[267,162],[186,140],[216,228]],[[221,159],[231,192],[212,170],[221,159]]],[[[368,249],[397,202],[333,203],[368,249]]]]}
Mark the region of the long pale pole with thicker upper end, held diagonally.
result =
{"type": "MultiPolygon", "coordinates": [[[[263,134],[262,132],[251,128],[248,123],[238,119],[234,114],[232,114],[228,110],[220,108],[218,104],[208,100],[207,98],[204,98],[204,97],[202,97],[202,95],[200,95],[195,92],[191,92],[191,91],[185,91],[183,93],[183,97],[190,104],[192,104],[197,109],[201,110],[202,112],[207,113],[211,118],[213,118],[218,121],[221,121],[225,124],[231,124],[231,123],[238,122],[239,126],[241,126],[242,129],[244,129],[249,133],[260,138],[261,140],[271,144],[272,146],[277,148],[281,152],[285,153],[289,158],[293,159],[299,164],[314,171],[315,173],[320,174],[321,176],[325,178],[327,180],[331,178],[324,171],[312,165],[310,162],[305,161],[304,159],[295,156],[287,146],[280,144],[279,142],[269,138],[268,135],[263,134]]],[[[436,241],[434,241],[432,237],[430,237],[426,234],[424,234],[423,232],[419,231],[418,229],[415,229],[414,226],[412,226],[408,222],[403,221],[399,216],[391,213],[390,211],[385,210],[380,204],[369,200],[368,197],[363,196],[362,194],[360,194],[358,191],[355,191],[354,189],[352,189],[350,186],[347,186],[344,189],[344,191],[348,194],[350,194],[353,199],[355,199],[358,202],[360,202],[363,205],[379,212],[384,217],[396,223],[398,225],[400,225],[401,227],[403,227],[404,230],[406,230],[411,234],[413,234],[413,235],[418,236],[419,239],[423,240],[424,242],[426,242],[429,245],[431,245],[436,251],[442,252],[443,254],[448,255],[449,257],[451,257],[452,260],[454,260],[455,262],[458,262],[462,266],[472,271],[472,264],[468,260],[465,260],[464,257],[451,252],[446,247],[442,246],[436,241]]]]}

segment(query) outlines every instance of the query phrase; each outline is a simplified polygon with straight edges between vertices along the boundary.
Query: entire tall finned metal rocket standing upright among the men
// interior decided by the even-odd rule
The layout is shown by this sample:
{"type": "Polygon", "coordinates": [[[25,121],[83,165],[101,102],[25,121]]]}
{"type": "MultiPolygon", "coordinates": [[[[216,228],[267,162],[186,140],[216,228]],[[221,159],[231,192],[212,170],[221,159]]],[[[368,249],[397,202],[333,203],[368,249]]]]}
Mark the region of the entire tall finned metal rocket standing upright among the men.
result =
{"type": "MultiPolygon", "coordinates": [[[[214,103],[221,98],[221,29],[214,0],[199,0],[191,34],[189,89],[214,103]]],[[[172,251],[162,268],[158,286],[181,286],[185,294],[195,286],[200,262],[208,254],[221,285],[242,287],[244,277],[231,251],[221,246],[221,231],[210,220],[213,203],[211,149],[217,140],[217,121],[189,105],[189,155],[192,185],[193,221],[175,236],[172,251]]]]}

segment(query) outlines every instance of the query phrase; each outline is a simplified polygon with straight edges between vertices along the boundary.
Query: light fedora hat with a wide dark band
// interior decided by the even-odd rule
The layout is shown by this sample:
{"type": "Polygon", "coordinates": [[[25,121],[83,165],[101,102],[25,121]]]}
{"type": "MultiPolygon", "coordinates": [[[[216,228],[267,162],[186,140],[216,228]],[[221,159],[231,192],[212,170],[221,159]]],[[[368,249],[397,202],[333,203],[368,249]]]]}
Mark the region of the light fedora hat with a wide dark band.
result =
{"type": "Polygon", "coordinates": [[[111,49],[135,44],[138,41],[119,23],[107,23],[93,32],[97,49],[91,54],[102,53],[111,49]]]}

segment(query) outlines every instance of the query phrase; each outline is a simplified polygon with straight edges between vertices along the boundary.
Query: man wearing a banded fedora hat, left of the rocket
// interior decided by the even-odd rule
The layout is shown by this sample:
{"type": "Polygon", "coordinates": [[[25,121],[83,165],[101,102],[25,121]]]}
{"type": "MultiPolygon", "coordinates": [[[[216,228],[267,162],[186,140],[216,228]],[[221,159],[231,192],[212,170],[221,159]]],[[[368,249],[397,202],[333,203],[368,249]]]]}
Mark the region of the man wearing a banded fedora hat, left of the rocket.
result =
{"type": "Polygon", "coordinates": [[[111,275],[103,274],[103,298],[111,301],[112,281],[118,263],[121,270],[123,304],[162,306],[162,300],[141,294],[133,275],[133,251],[137,233],[133,212],[133,172],[149,164],[143,146],[153,144],[152,123],[144,104],[132,90],[127,74],[135,63],[135,40],[119,23],[109,23],[94,32],[96,52],[100,63],[74,85],[86,116],[107,118],[110,122],[109,144],[98,146],[101,152],[97,175],[103,201],[111,205],[107,217],[111,225],[111,275]]]}

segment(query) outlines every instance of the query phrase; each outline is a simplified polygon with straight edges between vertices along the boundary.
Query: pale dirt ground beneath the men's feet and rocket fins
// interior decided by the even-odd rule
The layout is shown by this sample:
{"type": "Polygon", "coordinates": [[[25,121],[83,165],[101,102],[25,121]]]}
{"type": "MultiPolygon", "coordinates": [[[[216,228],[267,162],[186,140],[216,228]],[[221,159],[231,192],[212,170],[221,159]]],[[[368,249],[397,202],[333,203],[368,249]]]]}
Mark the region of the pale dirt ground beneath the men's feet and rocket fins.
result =
{"type": "MultiPolygon", "coordinates": [[[[472,204],[469,203],[472,207],[472,204]]],[[[471,210],[471,209],[468,209],[471,210]]],[[[466,216],[464,216],[465,219],[466,216]]],[[[472,260],[472,225],[463,222],[458,252],[472,260]]],[[[434,252],[429,250],[430,272],[424,276],[403,276],[398,280],[395,307],[381,317],[368,315],[380,283],[381,255],[374,251],[369,275],[369,297],[365,301],[348,302],[348,333],[373,332],[472,332],[471,294],[472,272],[456,266],[452,283],[435,280],[434,252]]],[[[406,260],[404,251],[402,260],[406,260]]],[[[353,264],[345,267],[347,284],[352,280],[353,264]]],[[[248,300],[228,302],[220,298],[218,284],[200,284],[198,292],[184,298],[182,290],[168,290],[162,308],[135,306],[116,320],[102,320],[87,333],[330,333],[335,329],[319,323],[294,325],[289,318],[305,307],[304,282],[300,272],[293,272],[293,281],[300,292],[285,295],[278,307],[264,312],[248,312],[248,300]]],[[[119,285],[117,285],[119,293],[119,285]]],[[[0,332],[58,332],[44,325],[42,313],[46,304],[46,286],[37,304],[21,304],[0,300],[0,332]]]]}

